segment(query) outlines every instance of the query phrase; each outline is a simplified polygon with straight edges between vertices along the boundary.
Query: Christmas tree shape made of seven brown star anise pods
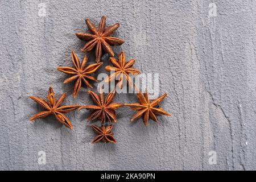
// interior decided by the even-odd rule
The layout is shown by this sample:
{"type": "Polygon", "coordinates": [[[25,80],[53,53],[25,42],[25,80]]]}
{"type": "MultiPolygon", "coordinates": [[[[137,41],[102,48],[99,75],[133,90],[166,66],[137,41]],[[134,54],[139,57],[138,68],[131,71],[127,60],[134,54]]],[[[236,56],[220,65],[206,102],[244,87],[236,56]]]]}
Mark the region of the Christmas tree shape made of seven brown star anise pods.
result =
{"type": "Polygon", "coordinates": [[[167,111],[165,111],[162,107],[159,107],[159,103],[167,96],[167,94],[163,94],[162,96],[156,98],[153,101],[150,101],[148,98],[148,94],[141,93],[136,85],[133,85],[131,80],[131,75],[137,75],[141,73],[138,69],[132,68],[135,60],[131,59],[126,62],[125,60],[125,52],[122,51],[118,55],[118,60],[114,57],[114,52],[112,46],[120,46],[125,41],[119,38],[115,38],[111,36],[115,30],[119,27],[119,23],[115,23],[112,26],[106,27],[106,17],[102,16],[100,20],[100,24],[98,28],[94,26],[92,22],[87,18],[85,19],[85,23],[87,24],[90,33],[76,33],[77,38],[81,40],[85,40],[87,43],[81,49],[82,52],[89,52],[94,49],[95,51],[95,60],[96,64],[90,64],[85,67],[87,62],[86,55],[81,61],[76,56],[74,51],[71,52],[71,59],[74,67],[59,67],[57,68],[59,71],[71,75],[71,77],[64,80],[64,84],[75,80],[75,86],[73,88],[73,97],[75,98],[79,93],[82,82],[90,88],[92,85],[89,83],[90,81],[98,81],[95,77],[92,76],[92,73],[96,72],[97,69],[102,65],[100,63],[101,57],[103,53],[108,53],[110,55],[110,62],[113,66],[106,66],[106,71],[110,72],[110,75],[105,79],[106,82],[110,82],[112,80],[118,79],[117,86],[122,89],[124,84],[129,84],[132,88],[135,89],[137,93],[138,103],[133,104],[119,104],[113,102],[115,96],[115,89],[112,92],[108,93],[106,98],[104,99],[104,94],[102,88],[100,89],[100,94],[96,94],[93,91],[89,91],[88,94],[94,101],[95,105],[69,105],[69,106],[60,106],[64,101],[66,94],[63,93],[59,100],[55,100],[55,94],[53,89],[49,87],[47,100],[43,100],[42,98],[31,96],[30,98],[36,101],[39,105],[46,109],[45,111],[40,111],[30,118],[30,121],[38,118],[47,117],[49,114],[55,115],[57,121],[61,122],[63,125],[72,129],[71,122],[64,115],[64,113],[68,113],[69,111],[75,110],[77,108],[80,109],[88,109],[91,110],[91,113],[88,117],[88,121],[98,119],[101,122],[101,126],[98,127],[96,125],[92,125],[93,130],[97,134],[97,136],[93,139],[92,143],[96,142],[111,142],[117,143],[112,129],[114,124],[112,122],[117,122],[117,113],[115,109],[121,106],[129,106],[131,109],[136,110],[137,112],[131,118],[131,121],[139,117],[143,117],[144,125],[147,126],[148,120],[151,118],[153,121],[158,122],[156,118],[157,115],[171,115],[167,111]],[[105,124],[109,122],[109,125],[105,124]]]}

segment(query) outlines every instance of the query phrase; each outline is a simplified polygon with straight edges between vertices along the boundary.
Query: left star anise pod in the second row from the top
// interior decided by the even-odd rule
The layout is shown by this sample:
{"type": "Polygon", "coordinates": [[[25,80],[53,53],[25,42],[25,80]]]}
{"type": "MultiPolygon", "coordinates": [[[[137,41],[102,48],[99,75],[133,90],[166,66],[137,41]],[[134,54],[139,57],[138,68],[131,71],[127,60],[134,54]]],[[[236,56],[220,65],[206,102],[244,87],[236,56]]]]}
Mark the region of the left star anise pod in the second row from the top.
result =
{"type": "Polygon", "coordinates": [[[95,72],[102,63],[90,64],[88,65],[88,67],[85,67],[85,64],[87,62],[87,57],[86,55],[84,55],[84,59],[82,59],[82,63],[80,65],[79,59],[77,58],[76,53],[74,51],[71,52],[71,59],[74,64],[74,68],[59,67],[57,69],[68,75],[73,75],[72,77],[69,77],[66,80],[64,80],[64,84],[67,84],[68,82],[71,82],[76,79],[76,83],[73,89],[73,97],[75,98],[81,88],[82,81],[84,81],[85,85],[90,88],[92,88],[92,85],[90,85],[86,79],[98,81],[91,74],[95,72]]]}

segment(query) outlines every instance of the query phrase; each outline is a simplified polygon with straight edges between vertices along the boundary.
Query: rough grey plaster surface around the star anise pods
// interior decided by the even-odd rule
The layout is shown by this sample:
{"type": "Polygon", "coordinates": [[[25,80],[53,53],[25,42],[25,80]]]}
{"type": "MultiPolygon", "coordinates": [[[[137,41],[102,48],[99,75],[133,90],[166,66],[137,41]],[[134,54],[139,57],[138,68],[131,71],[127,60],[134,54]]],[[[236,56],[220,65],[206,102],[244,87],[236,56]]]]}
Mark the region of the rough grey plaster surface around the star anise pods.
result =
{"type": "MultiPolygon", "coordinates": [[[[1,1],[0,17],[0,169],[256,169],[255,1],[1,1]],[[92,145],[88,111],[67,114],[73,131],[54,117],[29,122],[42,109],[28,96],[45,97],[52,85],[57,97],[68,93],[64,104],[91,102],[85,87],[74,100],[73,83],[64,85],[67,75],[55,68],[72,65],[71,49],[81,59],[84,42],[75,32],[101,15],[107,25],[121,24],[114,35],[126,43],[114,51],[125,50],[144,73],[159,73],[159,91],[168,93],[162,106],[173,117],[144,127],[141,119],[131,124],[134,111],[122,107],[118,143],[92,145]]],[[[109,64],[103,59],[99,73],[109,64]]],[[[137,98],[118,94],[115,101],[137,98]]]]}

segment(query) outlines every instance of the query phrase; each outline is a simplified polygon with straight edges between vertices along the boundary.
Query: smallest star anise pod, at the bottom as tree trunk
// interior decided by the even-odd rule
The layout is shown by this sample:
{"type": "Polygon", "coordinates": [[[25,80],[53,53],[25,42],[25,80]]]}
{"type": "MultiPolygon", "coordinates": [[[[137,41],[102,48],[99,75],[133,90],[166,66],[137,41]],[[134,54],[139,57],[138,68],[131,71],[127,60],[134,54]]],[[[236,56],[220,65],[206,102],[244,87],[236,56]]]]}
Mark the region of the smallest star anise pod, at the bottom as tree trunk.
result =
{"type": "Polygon", "coordinates": [[[112,128],[113,128],[113,124],[109,125],[107,127],[105,127],[104,125],[102,125],[101,127],[97,127],[96,125],[92,125],[93,130],[95,131],[95,133],[97,134],[97,136],[93,139],[92,143],[96,143],[96,142],[112,142],[112,143],[117,143],[115,141],[115,138],[113,136],[112,133],[112,128]]]}

